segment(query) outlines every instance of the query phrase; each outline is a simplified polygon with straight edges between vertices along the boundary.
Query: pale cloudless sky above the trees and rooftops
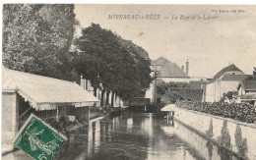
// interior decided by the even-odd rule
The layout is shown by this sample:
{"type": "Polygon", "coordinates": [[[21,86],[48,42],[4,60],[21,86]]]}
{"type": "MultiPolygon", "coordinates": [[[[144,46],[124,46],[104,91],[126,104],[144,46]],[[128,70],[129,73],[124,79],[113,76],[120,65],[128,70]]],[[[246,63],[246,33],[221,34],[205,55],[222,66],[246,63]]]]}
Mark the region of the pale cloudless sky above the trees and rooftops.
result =
{"type": "Polygon", "coordinates": [[[80,4],[75,14],[81,27],[95,23],[111,29],[143,47],[152,60],[162,56],[178,66],[188,60],[190,77],[213,78],[232,63],[248,75],[256,67],[256,6],[80,4]],[[145,20],[147,15],[158,20],[145,20]]]}

